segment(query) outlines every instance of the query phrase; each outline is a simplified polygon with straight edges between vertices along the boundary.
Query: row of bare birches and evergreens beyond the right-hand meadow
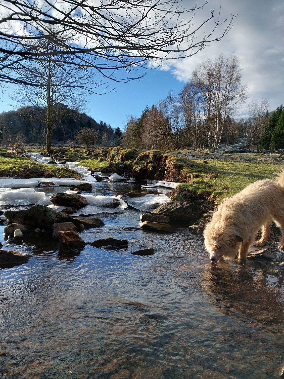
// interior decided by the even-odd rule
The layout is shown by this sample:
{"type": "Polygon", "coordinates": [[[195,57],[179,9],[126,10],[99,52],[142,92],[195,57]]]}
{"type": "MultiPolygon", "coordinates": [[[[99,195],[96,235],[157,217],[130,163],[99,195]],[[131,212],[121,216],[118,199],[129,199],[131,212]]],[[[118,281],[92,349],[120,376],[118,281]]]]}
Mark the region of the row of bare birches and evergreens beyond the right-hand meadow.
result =
{"type": "Polygon", "coordinates": [[[202,62],[175,95],[169,92],[140,117],[129,115],[123,144],[141,149],[218,149],[243,137],[246,147],[284,148],[282,105],[269,112],[269,101],[246,103],[247,86],[236,56],[202,62]],[[245,116],[239,117],[246,104],[245,116]]]}

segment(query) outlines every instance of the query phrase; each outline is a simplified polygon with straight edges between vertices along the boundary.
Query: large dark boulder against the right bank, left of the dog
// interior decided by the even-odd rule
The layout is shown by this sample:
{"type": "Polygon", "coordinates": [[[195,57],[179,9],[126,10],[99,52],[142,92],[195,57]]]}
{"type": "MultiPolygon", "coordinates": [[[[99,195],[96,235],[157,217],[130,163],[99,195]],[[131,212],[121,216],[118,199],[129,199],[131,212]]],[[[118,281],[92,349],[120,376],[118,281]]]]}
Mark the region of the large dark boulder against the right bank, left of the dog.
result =
{"type": "Polygon", "coordinates": [[[206,210],[186,201],[169,201],[160,205],[153,214],[168,216],[171,224],[189,226],[202,218],[206,210]]]}

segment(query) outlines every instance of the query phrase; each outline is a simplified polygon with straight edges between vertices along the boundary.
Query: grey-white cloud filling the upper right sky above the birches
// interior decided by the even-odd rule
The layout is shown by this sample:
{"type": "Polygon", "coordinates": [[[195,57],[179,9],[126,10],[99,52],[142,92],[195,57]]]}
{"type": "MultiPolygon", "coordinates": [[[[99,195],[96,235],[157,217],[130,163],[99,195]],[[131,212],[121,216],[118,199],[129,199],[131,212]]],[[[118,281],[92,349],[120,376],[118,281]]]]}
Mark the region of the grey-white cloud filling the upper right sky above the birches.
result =
{"type": "MultiPolygon", "coordinates": [[[[216,0],[210,0],[204,13],[196,17],[205,17],[209,7],[217,10],[218,6],[216,0]]],[[[284,4],[282,0],[226,0],[222,2],[221,19],[230,13],[237,16],[228,34],[197,55],[170,61],[171,72],[179,81],[187,82],[202,61],[215,60],[221,53],[225,57],[236,54],[243,69],[243,82],[249,87],[249,99],[267,98],[273,110],[284,102],[284,4]]]]}

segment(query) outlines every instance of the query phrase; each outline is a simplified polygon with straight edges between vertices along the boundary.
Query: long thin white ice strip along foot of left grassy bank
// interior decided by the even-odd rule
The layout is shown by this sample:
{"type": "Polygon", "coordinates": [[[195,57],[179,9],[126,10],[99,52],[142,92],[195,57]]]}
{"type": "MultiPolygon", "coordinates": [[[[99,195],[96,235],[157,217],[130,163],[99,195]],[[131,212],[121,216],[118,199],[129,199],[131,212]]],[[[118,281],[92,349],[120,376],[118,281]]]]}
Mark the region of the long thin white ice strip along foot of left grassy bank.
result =
{"type": "MultiPolygon", "coordinates": [[[[95,183],[95,178],[92,177],[92,180],[76,180],[73,178],[34,178],[34,179],[0,179],[1,188],[33,188],[41,185],[44,186],[45,182],[52,182],[55,186],[76,186],[82,183],[95,183]]],[[[49,186],[47,184],[47,186],[49,186]]]]}

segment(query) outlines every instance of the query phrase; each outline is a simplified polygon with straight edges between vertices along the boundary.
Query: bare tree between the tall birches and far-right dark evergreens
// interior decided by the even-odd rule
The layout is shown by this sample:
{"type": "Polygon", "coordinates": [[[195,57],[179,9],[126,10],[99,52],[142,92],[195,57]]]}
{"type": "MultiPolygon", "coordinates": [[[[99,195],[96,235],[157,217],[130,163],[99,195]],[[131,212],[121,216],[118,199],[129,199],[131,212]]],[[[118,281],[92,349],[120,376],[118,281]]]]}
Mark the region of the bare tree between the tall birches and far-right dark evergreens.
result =
{"type": "Polygon", "coordinates": [[[247,146],[253,146],[256,136],[262,131],[265,122],[265,116],[269,108],[269,101],[262,99],[259,103],[253,100],[247,105],[247,135],[250,138],[247,146]]]}

